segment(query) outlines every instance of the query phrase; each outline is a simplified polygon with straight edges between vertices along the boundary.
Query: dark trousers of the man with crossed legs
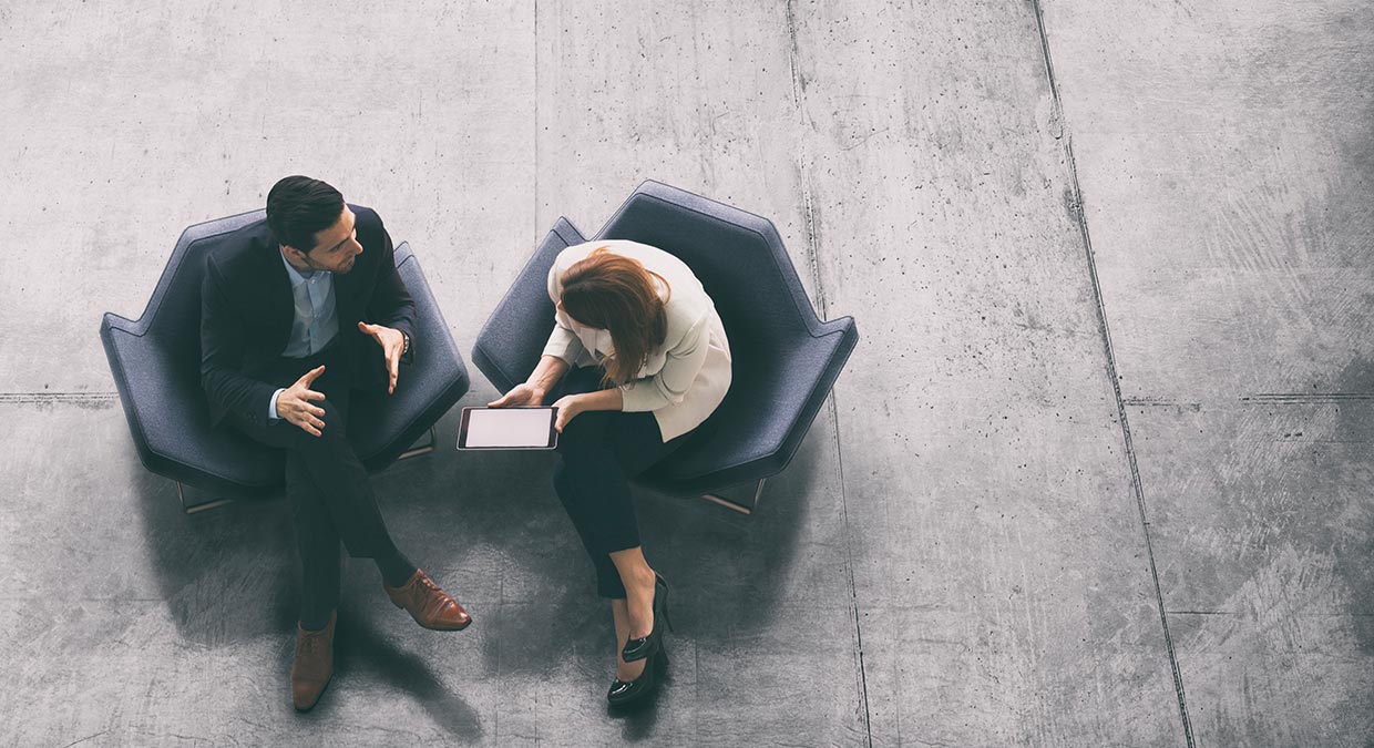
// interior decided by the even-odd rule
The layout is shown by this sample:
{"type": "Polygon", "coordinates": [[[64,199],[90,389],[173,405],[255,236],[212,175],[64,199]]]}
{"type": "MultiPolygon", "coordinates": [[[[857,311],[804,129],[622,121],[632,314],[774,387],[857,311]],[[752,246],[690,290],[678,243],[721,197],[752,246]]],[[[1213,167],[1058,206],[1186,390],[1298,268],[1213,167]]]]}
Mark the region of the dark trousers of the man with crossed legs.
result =
{"type": "Polygon", "coordinates": [[[348,441],[353,371],[344,348],[335,344],[301,359],[280,358],[262,381],[289,388],[320,364],[324,373],[311,385],[324,395],[323,402],[315,402],[324,410],[320,436],[286,419],[264,426],[229,412],[235,428],[250,439],[286,450],[286,494],[301,553],[302,619],[327,617],[338,606],[339,540],[353,558],[396,554],[367,469],[348,441]]]}

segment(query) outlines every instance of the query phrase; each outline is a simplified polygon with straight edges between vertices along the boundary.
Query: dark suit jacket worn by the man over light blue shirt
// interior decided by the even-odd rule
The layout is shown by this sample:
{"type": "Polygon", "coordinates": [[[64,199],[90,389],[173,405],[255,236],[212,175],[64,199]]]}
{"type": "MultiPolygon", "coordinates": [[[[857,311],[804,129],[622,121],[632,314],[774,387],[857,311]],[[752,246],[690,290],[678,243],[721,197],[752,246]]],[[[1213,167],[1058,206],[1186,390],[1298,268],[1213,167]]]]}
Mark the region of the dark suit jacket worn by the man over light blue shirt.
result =
{"type": "MultiPolygon", "coordinates": [[[[338,338],[353,363],[353,386],[386,389],[382,346],[357,323],[394,327],[415,345],[415,302],[396,271],[392,238],[371,208],[349,205],[357,216],[363,253],[353,270],[334,275],[338,338]]],[[[268,424],[276,384],[261,375],[286,349],[295,315],[291,280],[267,220],[228,236],[206,257],[201,286],[201,385],[210,402],[210,422],[229,411],[253,424],[268,424]]],[[[304,374],[305,371],[301,371],[304,374]]]]}

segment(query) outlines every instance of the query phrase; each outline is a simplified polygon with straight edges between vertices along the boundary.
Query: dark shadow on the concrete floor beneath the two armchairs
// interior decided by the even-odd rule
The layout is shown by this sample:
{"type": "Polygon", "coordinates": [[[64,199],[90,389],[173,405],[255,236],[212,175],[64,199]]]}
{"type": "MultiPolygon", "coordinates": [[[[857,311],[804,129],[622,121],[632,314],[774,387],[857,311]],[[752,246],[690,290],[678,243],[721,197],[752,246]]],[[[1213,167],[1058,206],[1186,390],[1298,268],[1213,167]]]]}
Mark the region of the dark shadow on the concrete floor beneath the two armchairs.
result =
{"type": "MultiPolygon", "coordinates": [[[[374,474],[393,538],[460,602],[477,604],[473,613],[475,626],[485,628],[480,646],[486,672],[543,678],[570,667],[588,678],[609,675],[614,642],[609,606],[596,597],[591,564],[552,491],[555,455],[455,451],[460,407],[437,425],[433,454],[374,474]],[[503,654],[499,642],[511,641],[550,656],[503,654]]],[[[778,615],[809,516],[813,509],[829,510],[813,505],[838,500],[812,488],[834,480],[822,476],[837,459],[831,432],[829,411],[822,410],[787,470],[768,480],[753,516],[635,485],[646,553],[673,590],[669,692],[695,683],[695,649],[728,649],[732,639],[767,628],[778,615]]],[[[144,477],[139,487],[144,534],[183,641],[201,646],[290,641],[300,562],[282,492],[188,516],[172,481],[144,477]]],[[[840,584],[842,561],[833,566],[835,579],[829,583],[840,584]]],[[[346,575],[345,609],[348,598],[357,597],[349,587],[346,575]]],[[[385,600],[382,605],[390,606],[385,600]]],[[[339,624],[341,667],[345,656],[349,670],[365,663],[416,693],[456,737],[481,734],[471,707],[445,693],[423,659],[387,644],[367,613],[352,619],[339,624]]],[[[290,646],[284,657],[283,690],[290,646]]],[[[653,732],[657,708],[625,718],[627,740],[644,737],[653,732]]]]}

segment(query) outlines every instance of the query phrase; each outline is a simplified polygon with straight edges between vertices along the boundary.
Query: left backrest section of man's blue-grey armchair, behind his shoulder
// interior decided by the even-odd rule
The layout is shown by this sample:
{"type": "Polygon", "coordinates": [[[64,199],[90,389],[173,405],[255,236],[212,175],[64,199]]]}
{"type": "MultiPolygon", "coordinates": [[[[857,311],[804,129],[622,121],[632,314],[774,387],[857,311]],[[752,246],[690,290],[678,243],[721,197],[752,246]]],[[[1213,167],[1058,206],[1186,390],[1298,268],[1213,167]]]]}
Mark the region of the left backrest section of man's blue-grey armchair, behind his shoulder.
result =
{"type": "Polygon", "coordinates": [[[181,232],[162,278],[139,318],[143,331],[153,336],[158,348],[187,362],[199,371],[201,364],[201,282],[205,258],[229,234],[262,220],[267,210],[251,210],[198,223],[181,232]]]}

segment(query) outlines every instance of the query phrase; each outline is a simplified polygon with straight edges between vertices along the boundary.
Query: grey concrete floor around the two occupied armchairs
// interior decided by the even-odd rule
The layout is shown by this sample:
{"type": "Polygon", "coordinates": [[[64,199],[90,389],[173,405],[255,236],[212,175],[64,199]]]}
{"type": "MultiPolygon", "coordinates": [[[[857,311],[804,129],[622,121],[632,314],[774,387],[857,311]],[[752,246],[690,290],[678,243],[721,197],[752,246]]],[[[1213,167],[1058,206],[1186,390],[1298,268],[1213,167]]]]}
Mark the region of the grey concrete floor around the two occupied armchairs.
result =
{"type": "Polygon", "coordinates": [[[0,7],[0,744],[1374,742],[1374,6],[304,6],[0,7]],[[859,319],[754,517],[643,496],[657,708],[605,714],[547,455],[442,450],[378,484],[477,624],[354,562],[291,711],[284,502],[181,514],[96,327],[297,172],[415,246],[464,352],[646,177],[859,319]]]}

